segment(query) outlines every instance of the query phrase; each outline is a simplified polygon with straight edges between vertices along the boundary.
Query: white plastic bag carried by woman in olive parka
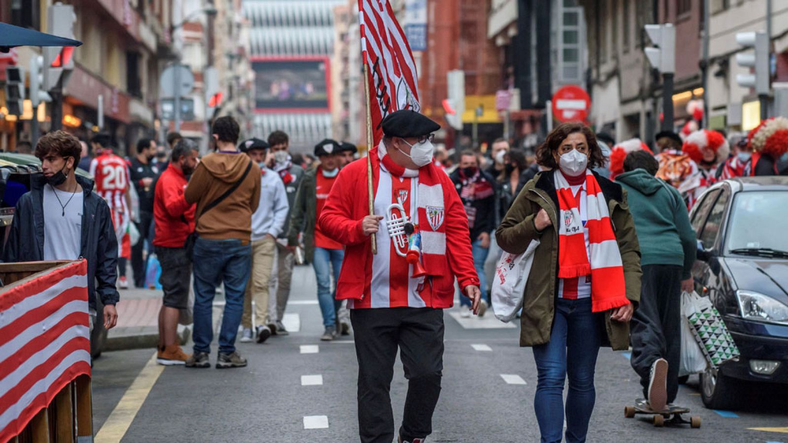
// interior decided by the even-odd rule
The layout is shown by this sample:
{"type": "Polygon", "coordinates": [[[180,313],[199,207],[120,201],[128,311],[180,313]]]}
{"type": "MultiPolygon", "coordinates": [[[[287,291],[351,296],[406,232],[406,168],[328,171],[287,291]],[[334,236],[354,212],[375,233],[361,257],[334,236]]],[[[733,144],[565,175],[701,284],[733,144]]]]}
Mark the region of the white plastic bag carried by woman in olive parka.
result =
{"type": "Polygon", "coordinates": [[[531,240],[526,251],[519,255],[504,252],[492,279],[492,311],[501,322],[511,322],[522,307],[528,274],[533,264],[533,251],[539,240],[531,240]]]}

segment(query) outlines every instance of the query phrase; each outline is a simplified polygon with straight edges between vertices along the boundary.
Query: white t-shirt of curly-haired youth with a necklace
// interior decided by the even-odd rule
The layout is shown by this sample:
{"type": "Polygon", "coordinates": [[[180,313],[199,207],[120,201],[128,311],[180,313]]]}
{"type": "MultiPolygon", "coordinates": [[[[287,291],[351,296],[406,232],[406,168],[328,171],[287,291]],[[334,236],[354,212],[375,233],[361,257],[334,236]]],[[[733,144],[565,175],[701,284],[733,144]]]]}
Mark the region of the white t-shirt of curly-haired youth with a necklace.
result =
{"type": "Polygon", "coordinates": [[[81,186],[77,186],[77,192],[72,194],[44,185],[44,260],[80,258],[83,200],[81,186]]]}

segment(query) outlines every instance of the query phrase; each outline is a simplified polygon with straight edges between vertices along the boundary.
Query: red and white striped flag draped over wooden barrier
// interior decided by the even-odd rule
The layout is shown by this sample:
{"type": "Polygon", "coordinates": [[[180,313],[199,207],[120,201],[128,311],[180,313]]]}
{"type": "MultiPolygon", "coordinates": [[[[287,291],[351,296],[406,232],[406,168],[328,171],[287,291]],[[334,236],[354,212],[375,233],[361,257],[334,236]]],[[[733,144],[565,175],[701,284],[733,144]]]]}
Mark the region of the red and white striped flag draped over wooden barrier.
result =
{"type": "Polygon", "coordinates": [[[91,374],[87,262],[0,292],[0,441],[20,433],[77,376],[91,374]]]}

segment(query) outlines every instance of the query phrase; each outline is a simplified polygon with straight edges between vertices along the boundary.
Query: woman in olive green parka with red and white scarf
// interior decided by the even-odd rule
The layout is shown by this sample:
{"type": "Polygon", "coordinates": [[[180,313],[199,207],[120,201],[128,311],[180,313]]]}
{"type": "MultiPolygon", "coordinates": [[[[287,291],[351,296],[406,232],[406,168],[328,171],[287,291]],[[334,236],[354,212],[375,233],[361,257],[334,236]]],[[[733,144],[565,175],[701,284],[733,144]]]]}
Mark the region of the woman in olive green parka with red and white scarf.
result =
{"type": "Polygon", "coordinates": [[[629,322],[640,300],[640,251],[626,192],[592,170],[604,166],[604,157],[590,128],[559,125],[539,148],[537,162],[552,170],[526,184],[496,239],[511,254],[538,242],[520,345],[533,347],[537,364],[533,406],[541,441],[562,439],[568,375],[566,441],[580,442],[596,399],[600,346],[629,348],[629,322]]]}

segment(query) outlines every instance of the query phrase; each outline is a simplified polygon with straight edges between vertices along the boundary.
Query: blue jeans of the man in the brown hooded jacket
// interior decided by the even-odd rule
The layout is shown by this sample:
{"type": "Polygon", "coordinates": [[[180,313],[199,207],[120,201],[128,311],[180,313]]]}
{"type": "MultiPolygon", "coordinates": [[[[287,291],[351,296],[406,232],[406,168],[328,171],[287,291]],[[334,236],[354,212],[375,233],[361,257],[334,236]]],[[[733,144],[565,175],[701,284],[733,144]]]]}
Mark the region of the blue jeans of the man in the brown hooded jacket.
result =
{"type": "Polygon", "coordinates": [[[251,272],[251,245],[241,240],[195,241],[195,352],[210,352],[214,340],[213,309],[216,287],[225,282],[225,313],[219,332],[219,352],[236,350],[236,334],[243,315],[243,293],[251,272]]]}

